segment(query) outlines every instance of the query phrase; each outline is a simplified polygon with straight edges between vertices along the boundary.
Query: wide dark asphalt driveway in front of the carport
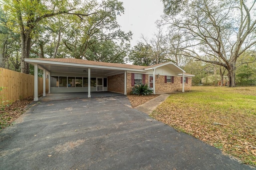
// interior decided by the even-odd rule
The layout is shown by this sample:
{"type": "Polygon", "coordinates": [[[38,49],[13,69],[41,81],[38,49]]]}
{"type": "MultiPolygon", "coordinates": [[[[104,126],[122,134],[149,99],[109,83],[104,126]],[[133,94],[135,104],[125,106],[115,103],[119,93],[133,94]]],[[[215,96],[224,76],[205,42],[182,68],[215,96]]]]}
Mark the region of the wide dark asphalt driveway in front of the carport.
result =
{"type": "Polygon", "coordinates": [[[132,109],[126,96],[33,105],[0,132],[0,169],[252,169],[132,109]]]}

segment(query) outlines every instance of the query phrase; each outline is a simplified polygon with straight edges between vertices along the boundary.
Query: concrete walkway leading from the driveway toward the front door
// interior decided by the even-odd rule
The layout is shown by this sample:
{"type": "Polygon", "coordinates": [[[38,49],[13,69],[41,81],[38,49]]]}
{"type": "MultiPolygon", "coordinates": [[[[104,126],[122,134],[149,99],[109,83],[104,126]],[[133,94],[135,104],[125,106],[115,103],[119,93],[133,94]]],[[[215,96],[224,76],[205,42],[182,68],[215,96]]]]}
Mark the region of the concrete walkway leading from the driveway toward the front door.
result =
{"type": "Polygon", "coordinates": [[[151,99],[150,101],[148,101],[140,106],[135,107],[135,109],[150,115],[152,113],[152,111],[154,111],[154,109],[156,109],[156,107],[158,105],[160,105],[162,102],[164,102],[164,100],[166,100],[166,98],[168,98],[169,96],[170,96],[170,94],[161,94],[160,96],[158,96],[154,99],[151,99]]]}

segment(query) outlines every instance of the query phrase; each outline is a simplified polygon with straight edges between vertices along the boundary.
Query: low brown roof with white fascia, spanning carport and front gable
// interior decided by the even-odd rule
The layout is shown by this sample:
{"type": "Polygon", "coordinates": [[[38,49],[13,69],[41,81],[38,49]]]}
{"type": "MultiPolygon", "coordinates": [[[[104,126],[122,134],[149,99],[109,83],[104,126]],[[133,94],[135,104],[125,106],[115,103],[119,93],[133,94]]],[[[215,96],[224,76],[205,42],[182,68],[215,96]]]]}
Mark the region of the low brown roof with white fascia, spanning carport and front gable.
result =
{"type": "Polygon", "coordinates": [[[38,64],[39,68],[46,69],[51,72],[82,72],[86,70],[86,68],[92,68],[94,71],[108,72],[108,74],[112,74],[113,72],[110,70],[127,70],[127,71],[135,71],[135,72],[147,72],[147,70],[155,69],[161,66],[170,66],[171,69],[176,73],[182,73],[185,71],[174,64],[173,62],[166,62],[155,64],[152,66],[137,66],[131,64],[118,64],[118,63],[105,63],[98,61],[88,61],[82,59],[72,59],[72,58],[56,58],[56,59],[30,59],[26,58],[25,61],[29,64],[38,64]]]}

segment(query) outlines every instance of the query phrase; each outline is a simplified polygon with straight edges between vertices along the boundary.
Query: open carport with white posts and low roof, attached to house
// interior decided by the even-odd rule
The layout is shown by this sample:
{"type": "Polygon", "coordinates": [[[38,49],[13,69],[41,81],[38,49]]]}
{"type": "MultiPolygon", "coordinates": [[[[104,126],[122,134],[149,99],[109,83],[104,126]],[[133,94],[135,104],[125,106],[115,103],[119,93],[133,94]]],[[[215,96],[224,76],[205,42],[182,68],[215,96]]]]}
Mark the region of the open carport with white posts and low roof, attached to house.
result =
{"type": "MultiPolygon", "coordinates": [[[[105,84],[108,82],[108,77],[124,74],[124,95],[127,93],[127,72],[145,73],[146,70],[143,66],[134,66],[128,64],[116,64],[116,63],[103,63],[95,61],[86,61],[79,59],[28,59],[25,61],[34,66],[34,101],[38,101],[38,69],[43,70],[43,96],[46,96],[46,77],[49,78],[49,91],[48,94],[64,93],[64,92],[87,92],[87,97],[91,97],[91,92],[108,91],[108,86],[105,84]],[[60,86],[60,77],[66,76],[66,87],[60,86]],[[91,86],[91,78],[95,78],[95,86],[91,86]],[[56,78],[55,78],[56,77],[56,78]],[[83,84],[87,86],[76,87],[68,83],[68,78],[73,78],[76,81],[76,77],[81,78],[83,84]],[[58,87],[53,87],[54,79],[58,84],[58,87]],[[99,83],[98,83],[99,82],[99,83]],[[99,85],[100,84],[100,85],[99,85]],[[74,87],[74,88],[72,88],[74,87]],[[53,91],[54,90],[54,91],[53,91]]],[[[63,80],[62,80],[63,81],[63,80]]],[[[55,84],[56,85],[56,84],[55,84]]],[[[118,86],[118,84],[116,85],[118,86]]],[[[84,93],[85,94],[85,93],[84,93]]]]}

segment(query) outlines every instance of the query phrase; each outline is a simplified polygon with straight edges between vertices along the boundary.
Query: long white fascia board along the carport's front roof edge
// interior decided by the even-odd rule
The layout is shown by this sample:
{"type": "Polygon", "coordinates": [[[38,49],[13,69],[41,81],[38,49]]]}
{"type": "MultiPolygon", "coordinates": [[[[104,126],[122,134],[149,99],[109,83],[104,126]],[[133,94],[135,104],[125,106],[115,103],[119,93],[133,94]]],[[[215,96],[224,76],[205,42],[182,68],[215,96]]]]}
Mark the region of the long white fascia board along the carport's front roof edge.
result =
{"type": "Polygon", "coordinates": [[[123,68],[123,67],[112,67],[112,66],[98,66],[98,65],[90,65],[90,64],[76,64],[76,63],[63,63],[57,61],[45,61],[45,60],[35,60],[35,59],[25,59],[26,62],[32,64],[54,64],[54,65],[62,65],[62,66],[79,66],[79,67],[88,67],[88,68],[101,68],[101,69],[109,69],[109,70],[127,70],[127,71],[136,71],[136,72],[145,72],[145,70],[135,69],[135,68],[123,68]]]}

